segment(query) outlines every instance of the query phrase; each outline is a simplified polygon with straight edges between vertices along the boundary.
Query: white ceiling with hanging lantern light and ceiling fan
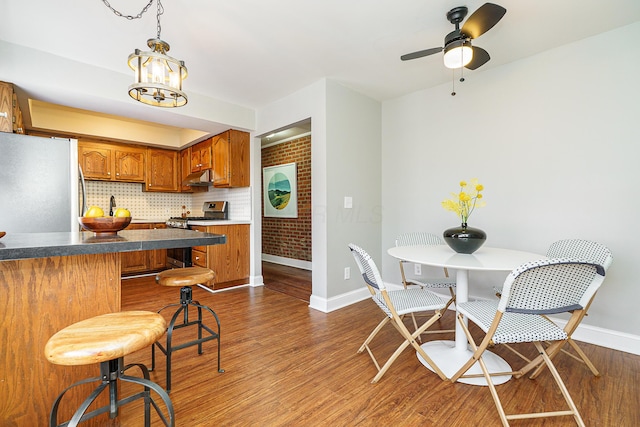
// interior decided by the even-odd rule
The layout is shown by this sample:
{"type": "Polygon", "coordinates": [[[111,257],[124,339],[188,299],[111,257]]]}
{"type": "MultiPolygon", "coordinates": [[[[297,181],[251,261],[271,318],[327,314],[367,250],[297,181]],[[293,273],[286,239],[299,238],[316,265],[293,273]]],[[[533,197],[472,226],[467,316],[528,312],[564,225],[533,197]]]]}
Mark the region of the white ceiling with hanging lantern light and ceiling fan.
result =
{"type": "MultiPolygon", "coordinates": [[[[109,1],[124,15],[137,15],[147,2],[109,1]]],[[[473,84],[475,73],[640,21],[638,0],[496,2],[507,9],[505,17],[474,40],[490,53],[491,61],[465,71],[465,84],[473,84]]],[[[407,62],[400,61],[400,55],[442,46],[454,28],[446,12],[466,5],[471,14],[484,1],[162,4],[161,36],[171,45],[169,55],[185,61],[189,69],[187,95],[259,109],[322,78],[380,101],[450,82],[451,70],[443,66],[441,54],[407,62]]],[[[127,75],[128,55],[135,48],[147,50],[146,40],[157,35],[156,2],[134,20],[116,16],[100,0],[0,0],[0,15],[0,40],[127,75]]],[[[629,46],[637,52],[635,41],[629,46]]],[[[42,75],[46,76],[46,64],[42,75]]],[[[126,89],[122,87],[125,97],[126,89]]],[[[71,98],[63,98],[60,104],[74,107],[71,98]]],[[[131,108],[149,108],[130,103],[136,104],[131,108]]],[[[182,126],[180,120],[172,124],[182,126]]],[[[184,125],[189,125],[187,120],[184,125]]]]}

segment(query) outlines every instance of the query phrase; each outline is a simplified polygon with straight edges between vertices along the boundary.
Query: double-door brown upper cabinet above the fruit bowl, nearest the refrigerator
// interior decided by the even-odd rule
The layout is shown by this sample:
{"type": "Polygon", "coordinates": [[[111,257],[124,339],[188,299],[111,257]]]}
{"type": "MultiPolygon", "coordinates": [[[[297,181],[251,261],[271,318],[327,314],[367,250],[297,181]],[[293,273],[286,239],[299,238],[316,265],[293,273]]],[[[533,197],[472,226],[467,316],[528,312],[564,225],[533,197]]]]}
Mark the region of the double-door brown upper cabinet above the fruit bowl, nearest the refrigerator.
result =
{"type": "Polygon", "coordinates": [[[145,149],[78,141],[78,162],[90,180],[144,182],[145,149]]]}

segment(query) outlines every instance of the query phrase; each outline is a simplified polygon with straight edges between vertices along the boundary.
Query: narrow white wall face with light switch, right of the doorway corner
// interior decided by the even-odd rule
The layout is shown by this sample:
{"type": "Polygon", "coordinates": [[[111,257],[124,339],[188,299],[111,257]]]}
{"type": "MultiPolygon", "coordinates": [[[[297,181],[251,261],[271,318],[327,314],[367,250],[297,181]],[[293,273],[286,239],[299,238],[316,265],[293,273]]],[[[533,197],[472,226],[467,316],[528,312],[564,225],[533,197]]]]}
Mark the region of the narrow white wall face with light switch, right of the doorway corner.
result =
{"type": "Polygon", "coordinates": [[[381,261],[382,108],[337,83],[330,82],[327,89],[327,286],[328,295],[337,296],[364,285],[349,243],[381,261]],[[352,198],[352,208],[344,207],[345,196],[352,198]],[[350,280],[344,279],[346,267],[350,280]]]}

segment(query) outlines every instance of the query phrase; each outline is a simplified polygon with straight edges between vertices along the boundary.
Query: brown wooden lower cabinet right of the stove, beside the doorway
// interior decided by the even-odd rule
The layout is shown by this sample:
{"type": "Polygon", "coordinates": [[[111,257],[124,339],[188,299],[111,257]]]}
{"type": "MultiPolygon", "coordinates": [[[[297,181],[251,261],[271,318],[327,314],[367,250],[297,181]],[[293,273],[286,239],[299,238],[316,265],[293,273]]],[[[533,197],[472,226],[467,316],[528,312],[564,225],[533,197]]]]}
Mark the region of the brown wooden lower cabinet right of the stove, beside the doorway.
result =
{"type": "Polygon", "coordinates": [[[227,243],[193,248],[194,265],[214,271],[214,289],[243,285],[249,281],[249,224],[192,226],[191,229],[227,236],[227,243]]]}

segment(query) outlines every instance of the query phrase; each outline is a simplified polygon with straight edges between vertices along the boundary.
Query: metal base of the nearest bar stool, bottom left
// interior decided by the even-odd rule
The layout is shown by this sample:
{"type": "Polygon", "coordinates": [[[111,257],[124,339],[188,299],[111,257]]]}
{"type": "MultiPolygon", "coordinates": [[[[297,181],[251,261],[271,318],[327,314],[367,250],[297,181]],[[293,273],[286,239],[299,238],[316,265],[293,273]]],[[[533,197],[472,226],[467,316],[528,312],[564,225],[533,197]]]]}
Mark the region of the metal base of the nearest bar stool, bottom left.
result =
{"type": "Polygon", "coordinates": [[[118,416],[118,409],[126,405],[127,403],[133,402],[138,399],[144,399],[144,425],[149,427],[151,420],[151,408],[152,405],[155,409],[156,413],[160,416],[163,424],[166,427],[173,427],[175,425],[175,417],[173,411],[173,404],[171,403],[171,399],[169,399],[169,395],[164,391],[162,387],[158,384],[152,382],[149,379],[149,370],[147,367],[141,363],[130,364],[124,366],[124,359],[122,357],[114,360],[108,360],[106,362],[100,363],[100,376],[93,378],[86,378],[84,380],[78,381],[69,387],[67,387],[58,398],[55,400],[53,407],[51,408],[51,414],[49,416],[49,426],[50,427],[75,427],[80,422],[86,421],[88,419],[94,418],[100,414],[109,413],[109,418],[113,419],[118,416]],[[125,375],[124,371],[128,370],[132,367],[138,367],[142,371],[143,378],[140,377],[132,377],[129,375],[125,375]],[[136,394],[132,394],[123,399],[118,399],[118,380],[131,382],[135,384],[139,384],[144,386],[144,391],[138,392],[136,394]],[[58,424],[58,406],[60,405],[60,401],[65,393],[72,388],[79,386],[81,384],[87,384],[91,382],[102,382],[90,395],[87,397],[84,402],[80,405],[80,407],[73,414],[73,417],[64,423],[58,424]],[[97,408],[89,413],[85,412],[89,408],[89,406],[96,400],[96,398],[102,394],[106,389],[109,390],[109,404],[97,408]],[[160,407],[156,403],[156,401],[151,397],[151,390],[155,391],[160,398],[164,401],[164,404],[167,407],[167,412],[169,415],[169,419],[164,416],[160,407]]]}

